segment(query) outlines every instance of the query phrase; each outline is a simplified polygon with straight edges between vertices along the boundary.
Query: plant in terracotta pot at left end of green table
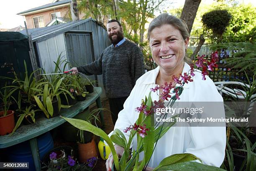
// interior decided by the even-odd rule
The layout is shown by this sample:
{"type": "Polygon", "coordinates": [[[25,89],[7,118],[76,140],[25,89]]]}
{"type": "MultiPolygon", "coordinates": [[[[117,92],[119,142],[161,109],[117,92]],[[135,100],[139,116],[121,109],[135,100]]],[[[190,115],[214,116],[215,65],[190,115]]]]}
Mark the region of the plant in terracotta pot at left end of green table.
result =
{"type": "Polygon", "coordinates": [[[0,135],[6,135],[8,133],[11,133],[14,128],[14,111],[9,110],[11,102],[11,95],[14,92],[14,90],[10,90],[10,88],[3,87],[0,90],[0,100],[1,104],[3,106],[2,109],[0,109],[0,135]]]}

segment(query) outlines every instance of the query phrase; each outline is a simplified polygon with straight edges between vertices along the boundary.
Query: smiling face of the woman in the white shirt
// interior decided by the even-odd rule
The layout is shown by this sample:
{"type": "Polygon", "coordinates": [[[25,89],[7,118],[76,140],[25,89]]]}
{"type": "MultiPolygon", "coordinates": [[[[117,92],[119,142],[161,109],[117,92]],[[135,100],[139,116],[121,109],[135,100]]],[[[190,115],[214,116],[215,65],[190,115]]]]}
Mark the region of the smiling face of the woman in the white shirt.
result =
{"type": "Polygon", "coordinates": [[[154,61],[166,71],[183,67],[188,41],[189,38],[184,40],[180,31],[172,25],[154,28],[149,38],[154,61]]]}

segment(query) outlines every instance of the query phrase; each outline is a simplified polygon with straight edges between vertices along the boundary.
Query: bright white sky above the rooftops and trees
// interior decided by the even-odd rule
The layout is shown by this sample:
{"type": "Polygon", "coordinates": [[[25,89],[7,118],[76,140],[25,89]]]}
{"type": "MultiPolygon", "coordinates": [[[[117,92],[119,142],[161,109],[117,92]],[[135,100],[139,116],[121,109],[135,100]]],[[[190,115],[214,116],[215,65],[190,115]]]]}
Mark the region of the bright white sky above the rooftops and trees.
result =
{"type": "MultiPolygon", "coordinates": [[[[0,0],[0,28],[24,27],[25,18],[16,15],[25,10],[51,3],[53,0],[0,0]]],[[[177,8],[184,5],[185,0],[168,0],[168,8],[177,8]]],[[[256,0],[240,0],[243,3],[252,3],[256,6],[256,0]]],[[[202,0],[201,3],[211,4],[213,0],[202,0]]]]}

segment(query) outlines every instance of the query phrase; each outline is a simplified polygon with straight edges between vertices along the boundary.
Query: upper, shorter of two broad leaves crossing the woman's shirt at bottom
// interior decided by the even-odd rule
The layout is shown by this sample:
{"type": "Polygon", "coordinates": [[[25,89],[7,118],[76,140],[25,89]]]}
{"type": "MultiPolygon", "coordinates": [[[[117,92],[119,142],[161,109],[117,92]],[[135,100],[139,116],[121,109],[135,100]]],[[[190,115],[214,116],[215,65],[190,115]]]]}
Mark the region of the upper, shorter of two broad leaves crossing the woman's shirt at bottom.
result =
{"type": "Polygon", "coordinates": [[[164,158],[154,170],[157,170],[164,166],[169,166],[176,163],[181,163],[185,161],[194,161],[194,160],[200,160],[200,159],[194,156],[193,154],[189,154],[189,153],[174,154],[172,156],[168,156],[164,158]]]}

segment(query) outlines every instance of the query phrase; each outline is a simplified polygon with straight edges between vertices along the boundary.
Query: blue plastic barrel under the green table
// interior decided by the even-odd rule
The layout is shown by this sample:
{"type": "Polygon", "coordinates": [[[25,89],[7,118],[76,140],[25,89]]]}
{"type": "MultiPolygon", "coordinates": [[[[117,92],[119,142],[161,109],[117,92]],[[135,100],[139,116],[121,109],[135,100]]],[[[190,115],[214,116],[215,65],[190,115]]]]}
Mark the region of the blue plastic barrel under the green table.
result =
{"type": "MultiPolygon", "coordinates": [[[[54,142],[51,137],[51,133],[47,132],[37,137],[37,146],[39,149],[40,160],[44,158],[44,155],[54,148],[54,142]]],[[[29,169],[15,168],[15,171],[35,171],[35,165],[31,153],[29,141],[13,145],[6,150],[9,162],[29,162],[29,169]]]]}

